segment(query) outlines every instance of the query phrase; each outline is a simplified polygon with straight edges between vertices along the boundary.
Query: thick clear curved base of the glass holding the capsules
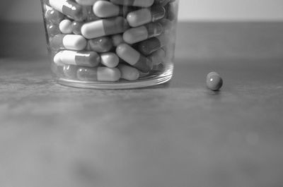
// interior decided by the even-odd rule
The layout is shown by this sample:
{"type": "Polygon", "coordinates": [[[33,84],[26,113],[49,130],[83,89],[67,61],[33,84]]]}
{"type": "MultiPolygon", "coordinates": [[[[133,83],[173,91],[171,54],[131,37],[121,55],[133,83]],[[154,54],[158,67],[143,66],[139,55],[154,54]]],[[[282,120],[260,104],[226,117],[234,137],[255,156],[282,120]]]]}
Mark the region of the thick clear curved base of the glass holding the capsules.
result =
{"type": "Polygon", "coordinates": [[[134,89],[146,88],[154,85],[161,85],[171,80],[173,72],[162,73],[157,76],[150,76],[135,81],[119,81],[119,82],[85,82],[79,80],[69,80],[66,78],[58,78],[57,83],[73,88],[88,88],[88,89],[107,89],[107,90],[120,90],[120,89],[134,89]]]}

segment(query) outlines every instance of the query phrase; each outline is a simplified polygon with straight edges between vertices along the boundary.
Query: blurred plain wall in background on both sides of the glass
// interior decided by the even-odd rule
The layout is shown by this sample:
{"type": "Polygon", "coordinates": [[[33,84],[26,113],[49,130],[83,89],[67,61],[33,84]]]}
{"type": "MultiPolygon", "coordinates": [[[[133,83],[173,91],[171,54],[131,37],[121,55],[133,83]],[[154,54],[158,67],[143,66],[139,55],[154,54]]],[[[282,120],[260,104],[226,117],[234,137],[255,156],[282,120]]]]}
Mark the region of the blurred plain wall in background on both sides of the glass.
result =
{"type": "MultiPolygon", "coordinates": [[[[282,20],[283,0],[180,0],[180,20],[282,20]]],[[[0,0],[0,19],[41,21],[40,0],[0,0]]]]}

